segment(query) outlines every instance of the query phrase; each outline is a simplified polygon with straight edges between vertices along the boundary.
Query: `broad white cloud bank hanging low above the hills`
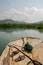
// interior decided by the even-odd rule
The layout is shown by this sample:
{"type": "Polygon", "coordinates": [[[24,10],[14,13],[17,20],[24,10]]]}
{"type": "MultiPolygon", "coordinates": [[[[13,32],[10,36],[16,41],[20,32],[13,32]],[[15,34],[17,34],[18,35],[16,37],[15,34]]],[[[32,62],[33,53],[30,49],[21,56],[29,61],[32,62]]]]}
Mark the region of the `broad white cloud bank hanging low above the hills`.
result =
{"type": "Polygon", "coordinates": [[[6,18],[33,23],[43,20],[43,9],[38,9],[36,7],[25,7],[22,10],[10,9],[0,13],[0,19],[6,18]]]}

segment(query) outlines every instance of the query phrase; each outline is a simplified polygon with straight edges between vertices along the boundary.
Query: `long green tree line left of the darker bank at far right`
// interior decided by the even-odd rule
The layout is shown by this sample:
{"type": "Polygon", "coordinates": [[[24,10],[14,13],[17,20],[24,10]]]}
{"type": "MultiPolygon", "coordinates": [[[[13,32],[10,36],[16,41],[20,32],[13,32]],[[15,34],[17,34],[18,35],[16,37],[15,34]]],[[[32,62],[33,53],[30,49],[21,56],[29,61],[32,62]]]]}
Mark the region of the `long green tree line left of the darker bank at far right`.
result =
{"type": "Polygon", "coordinates": [[[0,28],[35,28],[31,24],[0,24],[0,28]]]}

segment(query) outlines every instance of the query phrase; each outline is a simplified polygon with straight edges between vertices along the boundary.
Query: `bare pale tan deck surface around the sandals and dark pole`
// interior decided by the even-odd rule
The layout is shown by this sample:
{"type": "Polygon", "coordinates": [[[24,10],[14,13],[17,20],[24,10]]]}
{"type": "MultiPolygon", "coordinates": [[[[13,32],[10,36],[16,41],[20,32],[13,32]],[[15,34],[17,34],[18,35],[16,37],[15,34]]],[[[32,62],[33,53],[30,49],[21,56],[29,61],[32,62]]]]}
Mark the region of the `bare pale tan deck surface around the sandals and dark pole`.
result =
{"type": "MultiPolygon", "coordinates": [[[[29,42],[34,48],[33,48],[33,51],[32,51],[32,54],[31,53],[26,53],[24,52],[25,54],[27,54],[28,56],[30,56],[32,59],[36,59],[38,58],[38,54],[39,54],[39,58],[40,60],[38,59],[38,61],[40,61],[41,63],[43,63],[43,41],[40,40],[40,39],[37,39],[37,38],[31,38],[31,37],[27,37],[27,38],[24,38],[24,43],[26,42],[29,42]],[[42,56],[42,57],[41,57],[42,56]]],[[[13,42],[10,42],[9,45],[15,45],[16,47],[18,47],[20,50],[22,48],[22,44],[23,44],[23,40],[20,39],[20,40],[17,40],[17,41],[13,41],[13,42]],[[17,46],[18,45],[18,46],[17,46]]],[[[12,48],[10,53],[12,53],[12,51],[14,51],[15,49],[12,48]]],[[[19,56],[19,55],[22,55],[22,53],[19,53],[18,55],[14,56],[13,57],[13,61],[12,61],[12,58],[10,58],[8,56],[8,53],[9,53],[9,47],[6,46],[6,48],[4,49],[1,57],[0,57],[0,65],[5,65],[3,63],[3,61],[5,62],[7,59],[9,59],[9,61],[7,60],[7,62],[10,63],[10,65],[26,65],[28,61],[30,61],[28,58],[25,58],[25,60],[23,61],[20,61],[18,63],[16,63],[14,60],[19,56]],[[9,57],[9,58],[8,58],[9,57]],[[6,60],[4,60],[6,58],[6,60]],[[13,64],[11,64],[13,63],[13,64]]],[[[6,63],[6,62],[5,62],[6,63]]],[[[8,64],[9,64],[8,63],[8,64]]],[[[7,64],[7,65],[8,65],[7,64]]],[[[32,65],[32,64],[30,64],[32,65]]]]}

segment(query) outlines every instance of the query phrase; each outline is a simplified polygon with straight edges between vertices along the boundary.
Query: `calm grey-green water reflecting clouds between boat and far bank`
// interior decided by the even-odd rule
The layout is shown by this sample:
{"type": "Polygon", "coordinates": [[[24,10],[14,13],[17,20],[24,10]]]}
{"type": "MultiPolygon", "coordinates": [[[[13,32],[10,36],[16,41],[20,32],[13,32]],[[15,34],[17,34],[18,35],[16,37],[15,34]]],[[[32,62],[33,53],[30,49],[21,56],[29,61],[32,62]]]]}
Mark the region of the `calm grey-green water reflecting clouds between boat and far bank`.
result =
{"type": "Polygon", "coordinates": [[[32,29],[0,30],[0,54],[9,42],[20,39],[21,37],[35,37],[43,40],[43,33],[32,29]]]}

